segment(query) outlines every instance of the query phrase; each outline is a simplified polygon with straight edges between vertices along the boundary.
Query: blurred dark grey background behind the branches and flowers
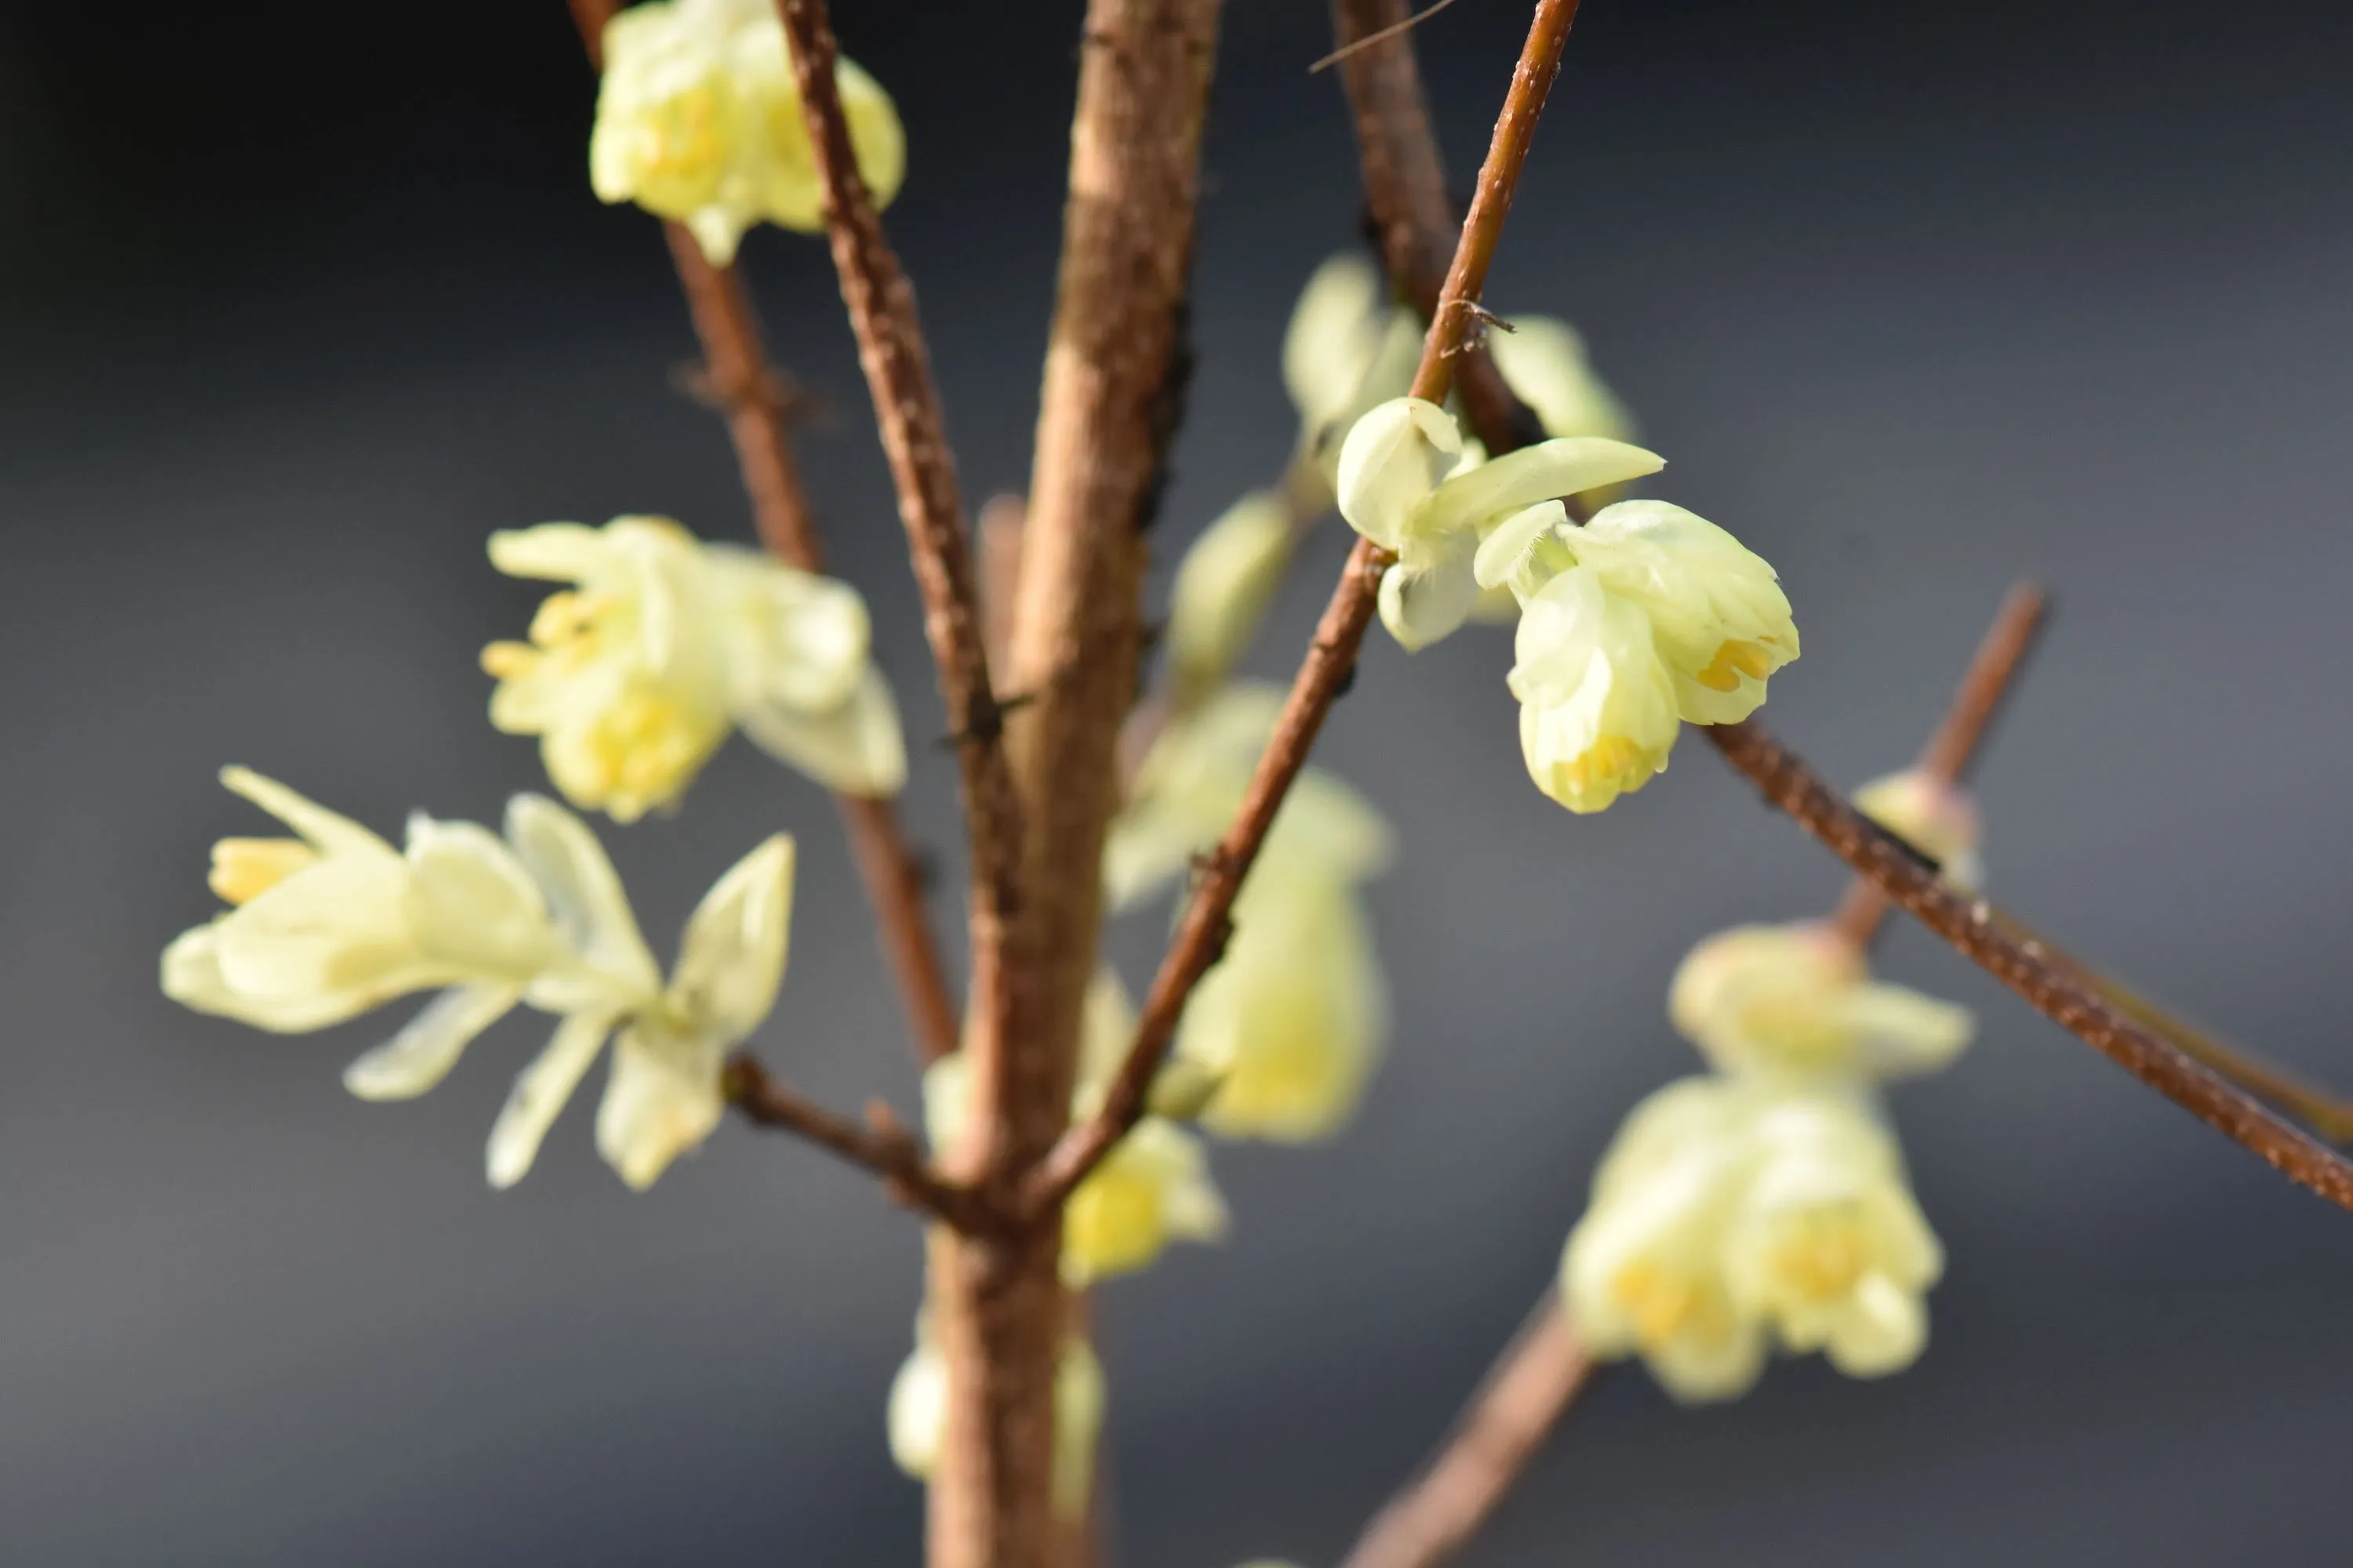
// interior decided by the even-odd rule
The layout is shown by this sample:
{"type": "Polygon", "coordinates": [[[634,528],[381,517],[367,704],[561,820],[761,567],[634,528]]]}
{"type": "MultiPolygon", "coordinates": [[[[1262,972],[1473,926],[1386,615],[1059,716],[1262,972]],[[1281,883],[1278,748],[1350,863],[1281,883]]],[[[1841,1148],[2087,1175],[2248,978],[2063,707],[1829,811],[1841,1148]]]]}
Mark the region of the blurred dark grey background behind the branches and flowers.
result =
{"type": "MultiPolygon", "coordinates": [[[[972,498],[1028,473],[1078,9],[838,5],[908,125],[889,223],[972,498]]],[[[1459,176],[1522,24],[1421,31],[1459,176]]],[[[1228,7],[1162,578],[1292,442],[1278,334],[1360,207],[1327,47],[1313,0],[1228,7]]],[[[1664,494],[1779,564],[1807,656],[1769,717],[1838,780],[1908,759],[2005,583],[2052,581],[1981,773],[1998,898],[2353,1088],[2348,68],[2353,12],[2318,2],[1591,0],[1489,301],[1577,320],[1664,494]]],[[[633,1197],[584,1095],[492,1194],[536,1025],[384,1107],[336,1074],[402,1009],[280,1039],[155,990],[214,907],[207,844],[256,830],[219,764],[381,830],[546,788],[482,719],[475,649],[536,599],[485,534],[748,531],[673,390],[659,235],[586,188],[591,96],[555,0],[0,12],[0,1561],[918,1561],[882,1443],[918,1248],[871,1182],[729,1124],[633,1197]]],[[[746,270],[833,411],[805,465],[920,750],[824,247],[758,230],[746,270]]],[[[1374,893],[1393,1053],[1337,1145],[1219,1152],[1231,1244],[1104,1293],[1132,1568],[1334,1561],[1551,1274],[1617,1119],[1692,1070],[1675,959],[1840,886],[1697,743],[1602,818],[1544,802],[1499,635],[1367,646],[1320,757],[1407,835],[1374,893]]],[[[953,865],[922,762],[906,809],[953,865]]],[[[689,804],[605,832],[656,947],[798,830],[755,1044],[911,1107],[824,797],[736,743],[689,804]]],[[[1158,936],[1122,926],[1132,980],[1158,936]]],[[[1981,1016],[1897,1100],[1951,1251],[1925,1361],[1786,1363],[1699,1413],[1612,1371],[1471,1561],[2346,1561],[2353,1222],[1918,931],[1885,969],[1981,1016]]]]}

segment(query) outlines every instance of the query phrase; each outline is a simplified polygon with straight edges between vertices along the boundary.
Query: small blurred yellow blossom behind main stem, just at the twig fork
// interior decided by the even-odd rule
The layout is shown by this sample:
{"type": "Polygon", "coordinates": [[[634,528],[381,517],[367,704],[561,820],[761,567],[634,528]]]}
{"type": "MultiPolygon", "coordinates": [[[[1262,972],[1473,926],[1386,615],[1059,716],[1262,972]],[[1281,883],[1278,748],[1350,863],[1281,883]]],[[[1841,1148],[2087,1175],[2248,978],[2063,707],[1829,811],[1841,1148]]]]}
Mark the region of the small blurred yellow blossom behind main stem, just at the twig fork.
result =
{"type": "MultiPolygon", "coordinates": [[[[1080,1074],[1071,1093],[1073,1119],[1092,1114],[1111,1072],[1134,1039],[1136,1018],[1111,971],[1087,992],[1080,1074]]],[[[972,1098],[962,1053],[944,1056],[922,1074],[922,1121],[934,1150],[953,1147],[972,1098]]],[[[1155,1098],[1158,1100],[1158,1098],[1155,1098]]],[[[1153,1262],[1172,1241],[1219,1241],[1226,1199],[1209,1178],[1200,1140],[1169,1117],[1144,1117],[1071,1192],[1061,1215],[1061,1276],[1085,1288],[1153,1262]]]]}

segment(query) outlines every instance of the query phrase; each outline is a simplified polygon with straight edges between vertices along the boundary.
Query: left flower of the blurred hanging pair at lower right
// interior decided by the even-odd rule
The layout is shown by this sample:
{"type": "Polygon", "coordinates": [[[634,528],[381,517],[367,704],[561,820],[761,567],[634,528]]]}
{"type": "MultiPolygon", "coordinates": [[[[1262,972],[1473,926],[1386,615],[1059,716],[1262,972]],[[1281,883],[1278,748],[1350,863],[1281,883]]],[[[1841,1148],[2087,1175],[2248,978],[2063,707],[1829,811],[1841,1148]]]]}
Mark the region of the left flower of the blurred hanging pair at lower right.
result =
{"type": "Polygon", "coordinates": [[[1560,1298],[1595,1356],[1640,1354],[1682,1401],[1734,1399],[1765,1371],[1762,1316],[1722,1265],[1725,1222],[1751,1161],[1751,1093],[1668,1084],[1628,1117],[1569,1232],[1560,1298]]]}

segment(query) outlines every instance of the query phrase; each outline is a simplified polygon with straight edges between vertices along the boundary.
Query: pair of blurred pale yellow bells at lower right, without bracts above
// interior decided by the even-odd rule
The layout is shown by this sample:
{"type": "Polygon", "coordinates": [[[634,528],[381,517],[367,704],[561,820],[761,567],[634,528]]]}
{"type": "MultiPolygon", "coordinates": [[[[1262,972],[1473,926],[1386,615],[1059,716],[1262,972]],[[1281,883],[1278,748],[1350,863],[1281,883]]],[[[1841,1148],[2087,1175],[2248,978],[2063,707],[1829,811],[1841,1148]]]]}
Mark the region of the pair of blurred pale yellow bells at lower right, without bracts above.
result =
{"type": "Polygon", "coordinates": [[[1562,1255],[1598,1356],[1675,1399],[1748,1392],[1774,1345],[1849,1378],[1911,1366],[1944,1253],[1868,1093],[1697,1077],[1626,1119],[1562,1255]]]}

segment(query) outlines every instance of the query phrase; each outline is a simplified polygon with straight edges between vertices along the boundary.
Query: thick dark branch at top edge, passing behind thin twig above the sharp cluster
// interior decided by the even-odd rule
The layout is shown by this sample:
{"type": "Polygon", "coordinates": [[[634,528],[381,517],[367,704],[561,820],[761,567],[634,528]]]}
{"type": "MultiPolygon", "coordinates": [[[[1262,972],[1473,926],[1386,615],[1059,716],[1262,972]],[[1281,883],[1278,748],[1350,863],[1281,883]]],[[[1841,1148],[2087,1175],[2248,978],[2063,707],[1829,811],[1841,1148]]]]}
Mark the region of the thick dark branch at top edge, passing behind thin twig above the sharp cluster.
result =
{"type": "MultiPolygon", "coordinates": [[[[1438,301],[1447,292],[1459,223],[1421,94],[1414,42],[1407,38],[1414,21],[1407,0],[1332,0],[1341,82],[1355,118],[1355,158],[1365,174],[1365,205],[1372,209],[1381,266],[1405,303],[1428,322],[1438,317],[1438,301]]],[[[1482,169],[1480,188],[1485,186],[1482,169]]],[[[1464,416],[1487,451],[1513,451],[1544,440],[1544,423],[1504,383],[1475,336],[1454,355],[1454,381],[1464,416]]]]}

